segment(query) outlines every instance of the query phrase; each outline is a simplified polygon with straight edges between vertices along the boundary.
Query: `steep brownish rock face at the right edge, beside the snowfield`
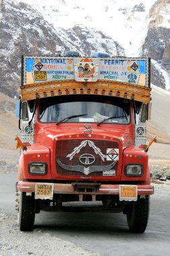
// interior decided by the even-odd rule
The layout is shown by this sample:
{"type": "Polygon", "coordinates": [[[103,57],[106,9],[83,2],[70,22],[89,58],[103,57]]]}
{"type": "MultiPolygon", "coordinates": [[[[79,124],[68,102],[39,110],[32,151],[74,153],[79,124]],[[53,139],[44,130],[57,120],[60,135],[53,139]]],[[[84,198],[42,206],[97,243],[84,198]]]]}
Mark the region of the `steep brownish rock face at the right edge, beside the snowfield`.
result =
{"type": "Polygon", "coordinates": [[[163,15],[169,15],[169,0],[158,0],[150,9],[149,18],[151,22],[145,42],[142,45],[142,52],[145,56],[151,57],[151,82],[156,86],[165,89],[165,78],[161,69],[170,76],[170,28],[166,27],[163,15]],[[157,63],[156,63],[157,62],[157,63]]]}

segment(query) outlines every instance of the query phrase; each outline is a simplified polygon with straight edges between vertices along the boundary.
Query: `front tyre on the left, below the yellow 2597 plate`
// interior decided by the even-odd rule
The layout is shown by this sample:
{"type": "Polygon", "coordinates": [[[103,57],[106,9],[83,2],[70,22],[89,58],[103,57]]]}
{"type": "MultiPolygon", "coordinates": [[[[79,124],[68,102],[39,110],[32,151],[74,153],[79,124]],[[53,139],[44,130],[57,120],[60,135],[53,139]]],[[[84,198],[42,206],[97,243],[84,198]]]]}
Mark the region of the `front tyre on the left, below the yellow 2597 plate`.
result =
{"type": "Polygon", "coordinates": [[[36,215],[36,203],[34,194],[26,195],[26,192],[19,193],[19,209],[17,214],[17,223],[19,230],[28,231],[34,227],[36,215]]]}

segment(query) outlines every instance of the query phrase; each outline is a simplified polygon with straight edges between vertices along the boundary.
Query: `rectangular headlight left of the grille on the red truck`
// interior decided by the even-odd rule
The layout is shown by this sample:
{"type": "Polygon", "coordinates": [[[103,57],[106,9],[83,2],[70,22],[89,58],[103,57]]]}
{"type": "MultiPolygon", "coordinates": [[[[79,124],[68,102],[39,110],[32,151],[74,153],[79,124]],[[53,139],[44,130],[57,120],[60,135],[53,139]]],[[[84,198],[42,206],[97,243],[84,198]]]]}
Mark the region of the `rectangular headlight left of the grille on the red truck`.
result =
{"type": "Polygon", "coordinates": [[[28,171],[31,174],[46,174],[47,164],[46,162],[30,162],[28,171]]]}

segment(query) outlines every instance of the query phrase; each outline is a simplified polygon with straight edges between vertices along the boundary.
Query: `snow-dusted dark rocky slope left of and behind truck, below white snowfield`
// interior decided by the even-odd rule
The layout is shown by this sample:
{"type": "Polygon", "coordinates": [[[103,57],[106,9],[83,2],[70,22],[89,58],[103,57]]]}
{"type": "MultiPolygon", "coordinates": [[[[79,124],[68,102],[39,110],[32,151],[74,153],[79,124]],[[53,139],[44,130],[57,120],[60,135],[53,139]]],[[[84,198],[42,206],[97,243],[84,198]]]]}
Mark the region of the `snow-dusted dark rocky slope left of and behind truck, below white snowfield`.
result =
{"type": "Polygon", "coordinates": [[[93,28],[75,26],[72,30],[54,30],[30,5],[1,1],[1,92],[19,95],[22,55],[55,56],[63,50],[75,49],[89,54],[100,49],[114,55],[124,50],[112,38],[93,28]]]}

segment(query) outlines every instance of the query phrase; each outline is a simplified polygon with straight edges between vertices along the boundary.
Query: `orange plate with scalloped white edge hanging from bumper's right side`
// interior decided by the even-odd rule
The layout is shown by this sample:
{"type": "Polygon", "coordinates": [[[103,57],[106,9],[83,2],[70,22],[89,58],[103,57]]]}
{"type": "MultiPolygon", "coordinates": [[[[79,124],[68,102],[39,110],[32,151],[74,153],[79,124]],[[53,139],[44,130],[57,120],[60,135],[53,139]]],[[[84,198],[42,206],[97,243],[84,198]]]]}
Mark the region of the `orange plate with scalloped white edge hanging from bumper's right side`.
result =
{"type": "Polygon", "coordinates": [[[136,185],[120,185],[119,199],[120,201],[137,201],[138,187],[136,185]]]}

